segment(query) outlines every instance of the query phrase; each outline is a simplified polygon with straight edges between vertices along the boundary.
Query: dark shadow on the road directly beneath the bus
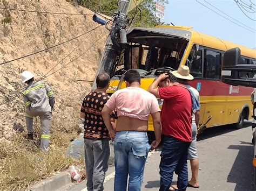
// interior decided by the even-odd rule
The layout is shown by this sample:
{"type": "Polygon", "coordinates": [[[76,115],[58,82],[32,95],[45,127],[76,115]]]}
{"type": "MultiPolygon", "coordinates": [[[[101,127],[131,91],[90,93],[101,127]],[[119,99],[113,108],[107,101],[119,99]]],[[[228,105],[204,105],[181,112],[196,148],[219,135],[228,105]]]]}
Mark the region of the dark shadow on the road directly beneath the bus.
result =
{"type": "MultiPolygon", "coordinates": [[[[245,121],[243,128],[251,128],[251,121],[245,121]]],[[[203,133],[201,133],[201,135],[197,137],[197,140],[199,141],[219,135],[224,135],[225,133],[232,131],[237,131],[237,129],[234,128],[234,124],[207,128],[203,133]]]]}

